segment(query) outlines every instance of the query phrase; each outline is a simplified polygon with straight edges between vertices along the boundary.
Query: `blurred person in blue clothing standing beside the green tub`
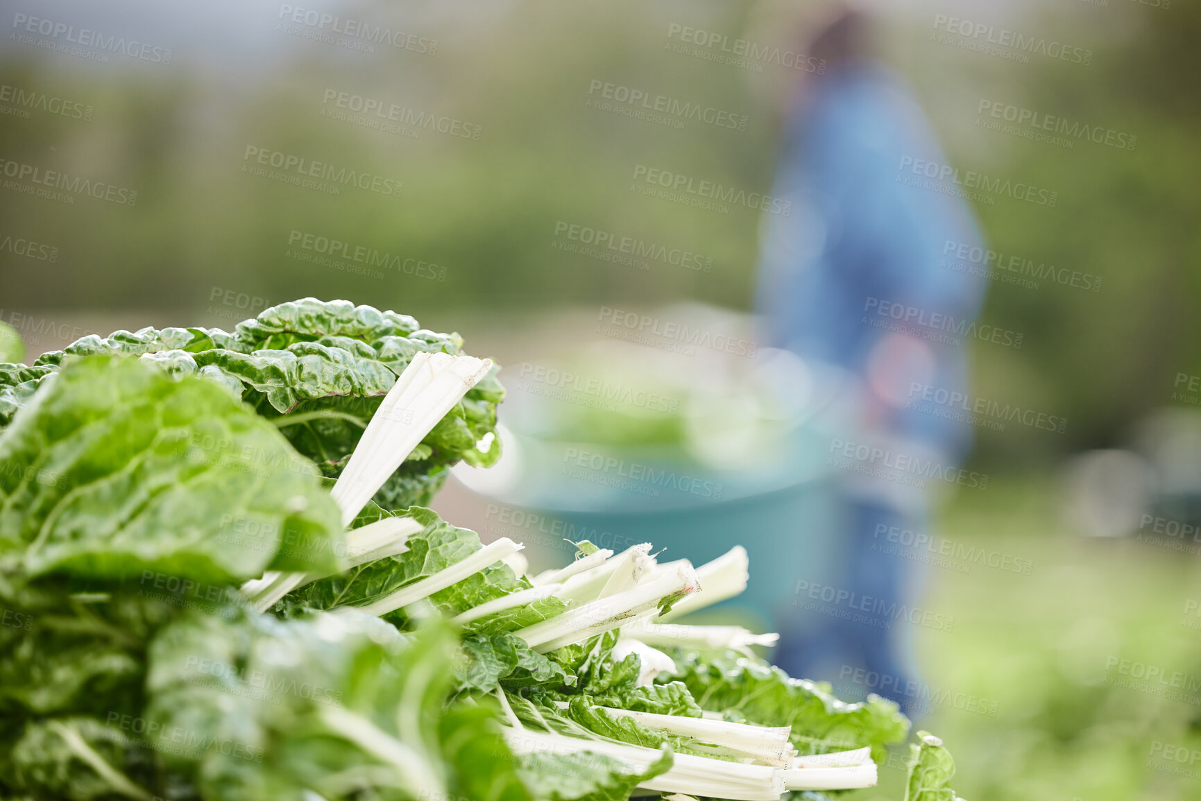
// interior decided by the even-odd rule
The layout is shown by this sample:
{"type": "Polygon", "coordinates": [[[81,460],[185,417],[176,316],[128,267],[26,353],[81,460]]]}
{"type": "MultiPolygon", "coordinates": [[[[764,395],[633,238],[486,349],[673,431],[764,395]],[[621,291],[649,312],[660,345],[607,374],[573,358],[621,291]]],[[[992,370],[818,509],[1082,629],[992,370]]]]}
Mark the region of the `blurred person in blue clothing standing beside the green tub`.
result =
{"type": "MultiPolygon", "coordinates": [[[[809,47],[820,67],[789,109],[773,192],[793,202],[791,213],[767,223],[757,300],[766,341],[838,376],[842,423],[831,429],[826,455],[843,460],[831,468],[838,522],[796,536],[838,538],[826,586],[844,596],[813,603],[860,621],[795,603],[777,621],[775,660],[791,675],[842,680],[841,687],[865,669],[862,689],[913,711],[904,693],[916,675],[912,621],[937,628],[939,618],[914,611],[922,568],[906,555],[926,552],[913,543],[927,533],[932,495],[946,486],[922,470],[946,474],[970,438],[966,423],[931,413],[938,405],[924,396],[966,391],[972,337],[961,330],[958,343],[948,342],[940,327],[972,324],[986,279],[944,262],[949,250],[982,245],[966,203],[903,183],[909,160],[948,161],[921,109],[872,50],[870,22],[846,8],[809,47]],[[843,443],[884,455],[847,460],[843,443]],[[877,468],[885,477],[856,472],[877,468]]],[[[797,576],[809,578],[803,566],[797,576]]]]}

